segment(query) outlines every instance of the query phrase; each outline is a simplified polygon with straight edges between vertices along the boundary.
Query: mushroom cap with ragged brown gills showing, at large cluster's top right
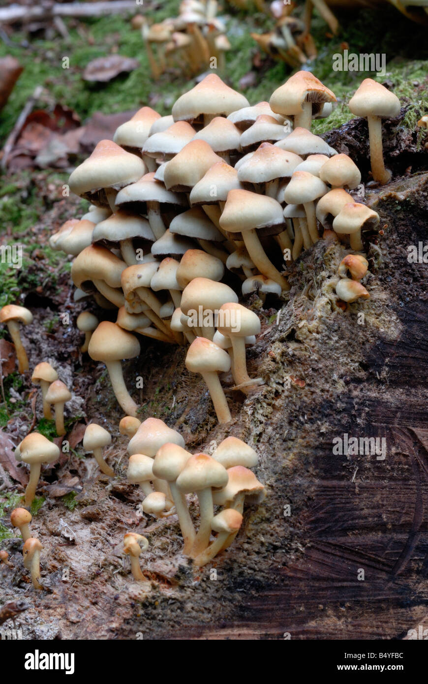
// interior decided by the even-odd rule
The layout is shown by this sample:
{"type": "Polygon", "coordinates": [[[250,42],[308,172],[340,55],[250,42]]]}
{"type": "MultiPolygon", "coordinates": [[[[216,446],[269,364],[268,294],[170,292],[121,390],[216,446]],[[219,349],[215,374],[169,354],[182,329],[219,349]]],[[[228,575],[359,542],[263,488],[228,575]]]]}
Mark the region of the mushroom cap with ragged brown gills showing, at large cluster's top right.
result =
{"type": "Polygon", "coordinates": [[[302,105],[306,102],[312,103],[312,113],[316,114],[323,103],[337,100],[334,92],[310,71],[297,71],[273,92],[269,105],[282,116],[295,116],[302,113],[302,105]]]}

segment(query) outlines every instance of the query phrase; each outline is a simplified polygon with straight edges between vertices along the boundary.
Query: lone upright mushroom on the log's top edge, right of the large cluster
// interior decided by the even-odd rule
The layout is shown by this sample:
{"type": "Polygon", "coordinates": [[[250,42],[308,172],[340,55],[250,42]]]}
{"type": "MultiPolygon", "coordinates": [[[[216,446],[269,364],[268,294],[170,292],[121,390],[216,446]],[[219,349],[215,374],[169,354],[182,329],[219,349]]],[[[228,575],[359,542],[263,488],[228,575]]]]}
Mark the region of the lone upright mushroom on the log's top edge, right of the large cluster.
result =
{"type": "Polygon", "coordinates": [[[400,113],[397,95],[373,79],[364,79],[348,105],[352,114],[364,116],[369,125],[370,161],[373,179],[385,185],[391,177],[386,170],[382,150],[382,118],[394,118],[400,113]]]}

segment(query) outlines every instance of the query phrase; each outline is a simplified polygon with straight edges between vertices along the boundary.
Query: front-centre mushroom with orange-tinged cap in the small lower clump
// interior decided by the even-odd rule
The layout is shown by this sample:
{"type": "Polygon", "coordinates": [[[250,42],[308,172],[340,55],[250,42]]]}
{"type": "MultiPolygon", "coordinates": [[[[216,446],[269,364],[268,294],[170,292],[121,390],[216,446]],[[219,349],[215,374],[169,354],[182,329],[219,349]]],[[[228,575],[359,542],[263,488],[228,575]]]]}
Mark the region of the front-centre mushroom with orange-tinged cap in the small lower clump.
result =
{"type": "Polygon", "coordinates": [[[214,517],[211,488],[223,488],[227,482],[226,468],[206,453],[191,456],[177,477],[178,490],[183,494],[196,492],[199,501],[200,524],[189,554],[193,558],[202,553],[209,544],[211,522],[214,517]]]}

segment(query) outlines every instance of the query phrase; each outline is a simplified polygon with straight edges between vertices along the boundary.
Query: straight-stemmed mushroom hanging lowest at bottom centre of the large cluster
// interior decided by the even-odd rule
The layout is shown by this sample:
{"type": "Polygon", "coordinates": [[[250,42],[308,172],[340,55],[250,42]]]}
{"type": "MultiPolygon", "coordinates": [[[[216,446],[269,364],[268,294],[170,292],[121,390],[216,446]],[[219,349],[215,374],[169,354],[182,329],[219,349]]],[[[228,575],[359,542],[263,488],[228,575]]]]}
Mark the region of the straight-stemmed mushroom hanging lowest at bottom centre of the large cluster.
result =
{"type": "Polygon", "coordinates": [[[217,373],[230,370],[230,356],[216,344],[204,337],[197,337],[191,343],[186,356],[186,368],[191,373],[200,373],[209,389],[219,423],[232,420],[228,402],[217,373]]]}

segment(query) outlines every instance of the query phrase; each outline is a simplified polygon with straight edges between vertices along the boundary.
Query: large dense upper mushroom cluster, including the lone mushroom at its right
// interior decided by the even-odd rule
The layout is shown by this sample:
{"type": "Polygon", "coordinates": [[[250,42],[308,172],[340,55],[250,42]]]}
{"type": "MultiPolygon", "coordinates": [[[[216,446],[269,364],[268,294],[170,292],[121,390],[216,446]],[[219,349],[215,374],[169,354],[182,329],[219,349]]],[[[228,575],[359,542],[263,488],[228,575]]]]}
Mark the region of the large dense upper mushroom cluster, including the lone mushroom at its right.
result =
{"type": "MultiPolygon", "coordinates": [[[[116,322],[80,315],[79,328],[126,415],[135,417],[137,406],[120,360],[139,356],[141,334],[190,345],[187,368],[201,373],[219,421],[228,422],[217,373],[232,369],[247,393],[260,382],[245,366],[260,322],[239,297],[287,291],[284,260],[314,245],[320,226],[363,250],[362,232],[379,217],[351,195],[360,171],[310,132],[312,118],[334,103],[306,71],[254,106],[210,74],[178,98],[171,116],[140,109],[72,172],[71,191],[92,205],[51,246],[75,257],[76,299],[92,294],[117,309],[116,322]]],[[[366,79],[350,107],[369,121],[373,177],[386,182],[380,122],[397,115],[398,98],[366,79]]]]}

